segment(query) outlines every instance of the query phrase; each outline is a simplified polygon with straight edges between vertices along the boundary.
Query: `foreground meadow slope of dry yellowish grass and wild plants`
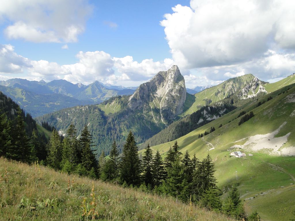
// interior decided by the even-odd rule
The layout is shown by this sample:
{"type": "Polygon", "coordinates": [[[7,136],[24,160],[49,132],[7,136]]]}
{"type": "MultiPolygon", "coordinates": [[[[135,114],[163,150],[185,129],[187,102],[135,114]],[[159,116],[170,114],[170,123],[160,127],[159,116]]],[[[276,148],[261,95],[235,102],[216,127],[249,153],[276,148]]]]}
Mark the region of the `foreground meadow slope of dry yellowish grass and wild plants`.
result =
{"type": "Polygon", "coordinates": [[[138,190],[123,189],[43,166],[0,159],[0,220],[92,220],[81,217],[82,202],[95,194],[96,220],[231,220],[194,205],[138,190]],[[93,191],[92,188],[94,187],[93,191]]]}

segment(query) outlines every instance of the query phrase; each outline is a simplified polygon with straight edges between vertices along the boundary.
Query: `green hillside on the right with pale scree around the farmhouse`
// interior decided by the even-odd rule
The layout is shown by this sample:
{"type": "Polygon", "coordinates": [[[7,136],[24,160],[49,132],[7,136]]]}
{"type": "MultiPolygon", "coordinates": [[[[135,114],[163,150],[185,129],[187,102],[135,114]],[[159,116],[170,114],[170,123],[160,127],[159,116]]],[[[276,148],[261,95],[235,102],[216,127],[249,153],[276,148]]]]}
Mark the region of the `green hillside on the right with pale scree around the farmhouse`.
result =
{"type": "MultiPolygon", "coordinates": [[[[283,155],[295,155],[294,110],[293,84],[178,138],[178,145],[181,152],[188,150],[191,156],[196,153],[199,159],[208,153],[212,156],[223,197],[227,187],[237,183],[242,199],[245,199],[246,210],[258,210],[264,220],[288,220],[291,216],[289,211],[295,209],[295,158],[283,155]],[[291,89],[286,92],[288,88],[291,89]],[[273,99],[267,101],[270,96],[273,99]],[[258,106],[259,102],[263,104],[258,106]],[[248,113],[251,110],[254,117],[238,126],[241,111],[248,113]],[[220,124],[223,126],[218,128],[220,124]],[[198,138],[213,126],[216,131],[198,138]],[[247,156],[230,157],[232,151],[242,151],[247,156]]],[[[171,141],[152,149],[165,154],[173,144],[171,141]]]]}

